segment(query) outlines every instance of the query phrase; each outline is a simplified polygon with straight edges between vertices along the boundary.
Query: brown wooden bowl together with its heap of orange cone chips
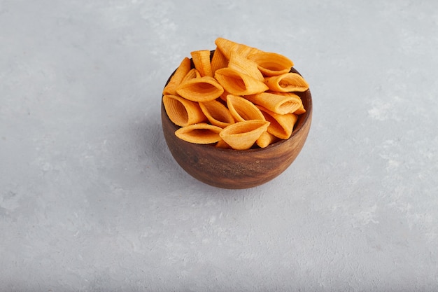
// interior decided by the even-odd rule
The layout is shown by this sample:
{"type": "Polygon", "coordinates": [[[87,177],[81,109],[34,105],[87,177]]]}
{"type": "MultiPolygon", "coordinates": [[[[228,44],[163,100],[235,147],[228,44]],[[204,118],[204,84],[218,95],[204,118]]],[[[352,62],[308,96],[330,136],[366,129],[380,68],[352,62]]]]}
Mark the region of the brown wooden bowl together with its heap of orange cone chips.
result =
{"type": "Polygon", "coordinates": [[[288,57],[223,38],[215,43],[216,50],[185,57],[164,86],[164,137],[196,179],[258,186],[301,151],[311,123],[309,84],[288,57]]]}

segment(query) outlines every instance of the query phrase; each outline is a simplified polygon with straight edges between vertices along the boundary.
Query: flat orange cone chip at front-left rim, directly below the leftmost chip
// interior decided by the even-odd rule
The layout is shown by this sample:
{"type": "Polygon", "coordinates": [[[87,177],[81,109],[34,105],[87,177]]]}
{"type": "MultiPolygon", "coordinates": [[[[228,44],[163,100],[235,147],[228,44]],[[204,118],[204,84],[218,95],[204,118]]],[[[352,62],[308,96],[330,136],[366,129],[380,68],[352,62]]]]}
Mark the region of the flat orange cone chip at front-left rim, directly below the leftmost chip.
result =
{"type": "Polygon", "coordinates": [[[207,123],[197,123],[181,127],[175,131],[176,137],[195,144],[213,144],[220,141],[221,127],[207,123]]]}

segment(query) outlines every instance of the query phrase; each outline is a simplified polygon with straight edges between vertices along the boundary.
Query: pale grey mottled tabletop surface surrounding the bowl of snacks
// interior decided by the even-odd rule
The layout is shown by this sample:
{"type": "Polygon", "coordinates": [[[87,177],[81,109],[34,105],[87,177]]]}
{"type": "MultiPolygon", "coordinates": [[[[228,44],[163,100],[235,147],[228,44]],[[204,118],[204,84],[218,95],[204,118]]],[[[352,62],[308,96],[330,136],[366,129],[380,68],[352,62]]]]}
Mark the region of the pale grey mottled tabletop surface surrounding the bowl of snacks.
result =
{"type": "Polygon", "coordinates": [[[0,0],[1,291],[438,291],[437,1],[0,0]],[[281,176],[199,183],[160,125],[223,36],[313,124],[281,176]]]}

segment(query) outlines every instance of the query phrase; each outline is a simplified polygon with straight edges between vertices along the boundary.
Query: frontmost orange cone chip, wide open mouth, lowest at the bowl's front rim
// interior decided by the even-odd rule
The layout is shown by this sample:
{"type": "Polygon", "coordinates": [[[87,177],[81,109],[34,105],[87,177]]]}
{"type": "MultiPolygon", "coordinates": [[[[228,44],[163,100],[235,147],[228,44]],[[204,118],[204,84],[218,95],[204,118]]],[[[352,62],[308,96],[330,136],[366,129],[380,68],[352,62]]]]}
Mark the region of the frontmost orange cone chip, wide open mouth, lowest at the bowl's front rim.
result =
{"type": "Polygon", "coordinates": [[[269,122],[265,120],[245,120],[225,127],[219,135],[233,149],[245,150],[251,148],[268,127],[269,122]]]}

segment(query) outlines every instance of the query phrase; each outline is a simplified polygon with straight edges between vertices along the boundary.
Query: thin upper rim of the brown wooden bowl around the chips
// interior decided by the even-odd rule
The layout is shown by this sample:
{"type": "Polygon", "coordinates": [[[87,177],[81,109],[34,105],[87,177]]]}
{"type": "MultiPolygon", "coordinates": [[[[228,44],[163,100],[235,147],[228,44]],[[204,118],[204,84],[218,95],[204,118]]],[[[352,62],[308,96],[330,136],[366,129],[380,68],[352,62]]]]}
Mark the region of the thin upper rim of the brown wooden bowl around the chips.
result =
{"type": "MultiPolygon", "coordinates": [[[[213,55],[213,52],[214,52],[214,50],[211,50],[211,55],[213,55]]],[[[190,64],[191,64],[192,67],[194,67],[194,64],[193,64],[193,60],[192,60],[192,58],[190,58],[190,64]]],[[[169,78],[167,79],[167,82],[164,84],[164,86],[166,86],[166,85],[170,82],[170,79],[171,79],[172,76],[174,76],[175,72],[176,72],[176,69],[175,69],[174,72],[169,76],[169,78]]],[[[297,74],[299,74],[300,76],[302,76],[302,75],[299,73],[299,71],[297,71],[297,69],[295,69],[295,67],[291,67],[289,72],[297,73],[297,74]]],[[[293,137],[295,137],[295,135],[297,135],[297,133],[298,133],[300,130],[302,130],[302,127],[304,127],[304,125],[306,125],[306,123],[308,123],[309,118],[312,116],[311,113],[312,113],[312,111],[313,111],[313,104],[312,104],[312,95],[311,95],[311,90],[310,90],[310,88],[308,88],[306,91],[303,91],[303,92],[300,92],[300,93],[302,93],[302,94],[308,94],[308,95],[309,95],[309,106],[308,106],[309,109],[306,109],[306,112],[305,112],[305,113],[302,113],[302,115],[297,115],[297,116],[298,116],[298,121],[297,121],[297,123],[299,123],[299,127],[294,128],[294,129],[292,130],[292,134],[290,135],[290,137],[289,137],[288,139],[280,139],[279,141],[276,141],[276,142],[273,143],[273,144],[269,144],[268,146],[266,146],[266,147],[264,147],[264,148],[258,147],[258,148],[244,149],[244,150],[236,150],[236,149],[232,149],[232,148],[220,148],[220,147],[214,147],[214,146],[211,145],[211,144],[196,144],[196,145],[198,145],[198,146],[202,146],[202,147],[206,147],[206,148],[207,148],[207,147],[209,147],[209,148],[213,148],[213,149],[215,149],[215,150],[217,150],[217,151],[233,152],[233,153],[236,153],[236,152],[237,152],[237,153],[243,153],[243,152],[260,152],[260,151],[266,151],[267,149],[276,148],[276,147],[281,146],[282,144],[286,143],[288,140],[290,140],[290,139],[292,139],[293,137]],[[304,115],[304,117],[300,117],[300,116],[303,116],[303,115],[304,115]]],[[[166,112],[165,109],[164,109],[163,97],[164,97],[164,95],[162,95],[162,98],[161,98],[162,111],[164,111],[164,114],[165,114],[166,118],[167,118],[167,119],[168,119],[173,125],[175,125],[175,124],[170,120],[169,116],[167,116],[167,112],[166,112]]],[[[301,97],[300,97],[300,98],[301,98],[301,97]]],[[[181,128],[181,127],[179,127],[178,125],[175,125],[175,127],[181,128]]],[[[181,141],[184,141],[184,140],[181,140],[181,141]]],[[[184,141],[184,142],[186,142],[186,143],[190,143],[190,142],[187,142],[187,141],[184,141]]],[[[190,143],[190,144],[192,144],[192,143],[190,143]]]]}

